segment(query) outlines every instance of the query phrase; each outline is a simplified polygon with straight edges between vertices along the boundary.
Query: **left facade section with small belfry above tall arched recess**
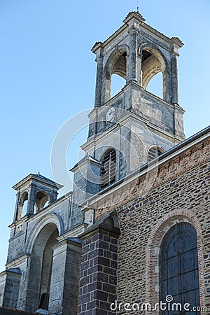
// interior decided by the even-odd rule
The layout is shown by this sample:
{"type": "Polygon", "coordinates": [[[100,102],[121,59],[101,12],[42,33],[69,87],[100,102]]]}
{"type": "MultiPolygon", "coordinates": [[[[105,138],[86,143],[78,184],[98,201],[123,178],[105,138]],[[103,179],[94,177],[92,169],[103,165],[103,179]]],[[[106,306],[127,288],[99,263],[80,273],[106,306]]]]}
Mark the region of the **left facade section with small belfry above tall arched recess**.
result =
{"type": "Polygon", "coordinates": [[[51,246],[57,241],[59,219],[55,209],[47,206],[57,200],[57,190],[62,185],[38,173],[29,174],[13,188],[18,193],[6,270],[0,276],[0,304],[34,311],[39,304],[48,304],[51,246]]]}

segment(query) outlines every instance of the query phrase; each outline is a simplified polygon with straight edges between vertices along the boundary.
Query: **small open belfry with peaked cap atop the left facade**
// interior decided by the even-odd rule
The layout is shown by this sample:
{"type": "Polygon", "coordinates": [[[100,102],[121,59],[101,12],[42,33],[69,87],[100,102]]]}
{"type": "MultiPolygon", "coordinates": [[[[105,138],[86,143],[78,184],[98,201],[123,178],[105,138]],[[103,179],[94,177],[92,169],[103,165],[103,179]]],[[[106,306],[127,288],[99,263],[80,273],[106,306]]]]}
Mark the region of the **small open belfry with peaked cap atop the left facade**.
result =
{"type": "Polygon", "coordinates": [[[40,211],[45,207],[45,204],[51,204],[57,199],[57,190],[62,188],[61,185],[47,179],[41,174],[29,174],[25,179],[19,181],[15,186],[15,190],[18,190],[16,194],[16,205],[14,222],[19,221],[23,214],[23,208],[25,202],[27,202],[26,216],[32,216],[34,211],[40,211]]]}

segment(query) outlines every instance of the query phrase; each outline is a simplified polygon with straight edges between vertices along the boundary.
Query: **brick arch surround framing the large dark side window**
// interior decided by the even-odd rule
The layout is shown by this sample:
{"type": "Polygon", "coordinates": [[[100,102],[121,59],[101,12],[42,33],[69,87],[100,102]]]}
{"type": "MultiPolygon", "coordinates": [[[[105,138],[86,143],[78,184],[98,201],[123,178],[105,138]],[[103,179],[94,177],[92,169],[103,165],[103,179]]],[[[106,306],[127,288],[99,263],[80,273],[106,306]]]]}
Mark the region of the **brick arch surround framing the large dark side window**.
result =
{"type": "MultiPolygon", "coordinates": [[[[204,274],[202,269],[202,230],[200,223],[192,211],[187,210],[174,210],[169,214],[163,216],[157,225],[153,228],[148,244],[146,247],[146,302],[151,303],[159,302],[159,256],[160,246],[167,232],[176,223],[190,223],[193,225],[197,232],[197,253],[198,253],[198,267],[200,276],[200,303],[204,304],[204,274]]],[[[157,311],[154,314],[158,314],[157,311]]]]}

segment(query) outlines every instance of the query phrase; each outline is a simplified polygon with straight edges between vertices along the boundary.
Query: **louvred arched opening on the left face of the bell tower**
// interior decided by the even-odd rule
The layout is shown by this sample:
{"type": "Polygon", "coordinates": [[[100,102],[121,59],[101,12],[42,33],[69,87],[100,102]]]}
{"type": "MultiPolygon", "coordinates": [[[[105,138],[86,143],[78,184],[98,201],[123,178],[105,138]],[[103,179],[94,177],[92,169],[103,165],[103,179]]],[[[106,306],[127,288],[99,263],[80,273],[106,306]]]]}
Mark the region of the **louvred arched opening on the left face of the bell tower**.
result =
{"type": "Polygon", "coordinates": [[[116,151],[106,151],[102,160],[101,188],[105,188],[116,181],[116,151]]]}

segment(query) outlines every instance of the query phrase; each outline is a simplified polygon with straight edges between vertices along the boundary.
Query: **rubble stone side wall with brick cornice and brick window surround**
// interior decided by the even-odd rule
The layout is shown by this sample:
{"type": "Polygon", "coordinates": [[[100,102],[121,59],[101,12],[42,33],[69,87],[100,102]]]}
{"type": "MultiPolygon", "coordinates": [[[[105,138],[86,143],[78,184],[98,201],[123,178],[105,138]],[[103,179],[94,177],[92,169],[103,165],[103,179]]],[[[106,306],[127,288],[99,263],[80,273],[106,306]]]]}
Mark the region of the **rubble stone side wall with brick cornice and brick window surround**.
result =
{"type": "Polygon", "coordinates": [[[130,187],[124,186],[100,200],[96,221],[116,210],[120,224],[118,303],[158,302],[158,252],[162,240],[158,244],[158,233],[164,237],[169,226],[185,221],[197,230],[201,306],[210,307],[209,148],[207,138],[160,165],[145,197],[141,194],[147,189],[149,176],[147,179],[143,175],[128,184],[130,187]]]}

